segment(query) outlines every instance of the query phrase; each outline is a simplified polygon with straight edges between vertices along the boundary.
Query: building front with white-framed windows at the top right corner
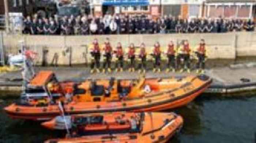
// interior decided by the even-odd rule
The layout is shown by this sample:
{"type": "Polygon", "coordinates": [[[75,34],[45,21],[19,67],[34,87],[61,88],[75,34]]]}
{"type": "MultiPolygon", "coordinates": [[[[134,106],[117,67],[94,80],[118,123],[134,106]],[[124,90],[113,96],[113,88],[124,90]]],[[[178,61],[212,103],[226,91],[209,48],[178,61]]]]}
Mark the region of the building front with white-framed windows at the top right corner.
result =
{"type": "Polygon", "coordinates": [[[235,19],[256,18],[256,0],[206,0],[206,17],[235,19]]]}

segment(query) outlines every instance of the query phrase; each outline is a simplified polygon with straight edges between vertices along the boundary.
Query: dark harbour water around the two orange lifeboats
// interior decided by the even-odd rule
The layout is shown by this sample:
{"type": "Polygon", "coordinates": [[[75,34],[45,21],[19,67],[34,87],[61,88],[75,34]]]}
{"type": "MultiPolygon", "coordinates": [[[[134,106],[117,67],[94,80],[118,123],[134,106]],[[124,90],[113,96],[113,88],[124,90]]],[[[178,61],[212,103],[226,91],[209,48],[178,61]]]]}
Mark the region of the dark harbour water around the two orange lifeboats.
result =
{"type": "MultiPolygon", "coordinates": [[[[57,132],[40,127],[39,123],[12,120],[0,103],[0,143],[41,143],[58,137],[57,132]]],[[[175,111],[184,118],[184,127],[170,143],[254,143],[256,132],[256,95],[221,97],[201,95],[175,111]]]]}

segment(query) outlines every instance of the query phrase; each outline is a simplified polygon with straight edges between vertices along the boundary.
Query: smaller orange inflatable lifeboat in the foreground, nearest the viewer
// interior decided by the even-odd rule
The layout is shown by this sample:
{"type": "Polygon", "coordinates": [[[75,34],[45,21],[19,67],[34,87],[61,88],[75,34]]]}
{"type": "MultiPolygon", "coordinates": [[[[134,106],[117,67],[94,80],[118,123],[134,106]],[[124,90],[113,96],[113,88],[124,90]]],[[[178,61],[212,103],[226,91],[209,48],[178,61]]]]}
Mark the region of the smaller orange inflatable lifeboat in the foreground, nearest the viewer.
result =
{"type": "Polygon", "coordinates": [[[69,132],[66,138],[50,139],[45,143],[165,143],[182,124],[182,117],[175,113],[117,112],[57,116],[42,126],[67,128],[69,132]]]}

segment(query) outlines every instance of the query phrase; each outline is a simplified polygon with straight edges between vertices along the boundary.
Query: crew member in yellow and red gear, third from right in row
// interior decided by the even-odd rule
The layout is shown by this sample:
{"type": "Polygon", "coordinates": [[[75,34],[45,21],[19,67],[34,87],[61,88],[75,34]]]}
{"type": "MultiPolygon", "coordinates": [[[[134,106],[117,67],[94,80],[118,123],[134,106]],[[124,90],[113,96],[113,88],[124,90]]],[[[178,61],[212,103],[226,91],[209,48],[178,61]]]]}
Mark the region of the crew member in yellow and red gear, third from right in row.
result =
{"type": "Polygon", "coordinates": [[[171,40],[167,45],[166,55],[168,57],[168,64],[166,68],[166,73],[170,71],[170,66],[172,66],[172,72],[175,72],[175,49],[173,41],[171,40]]]}

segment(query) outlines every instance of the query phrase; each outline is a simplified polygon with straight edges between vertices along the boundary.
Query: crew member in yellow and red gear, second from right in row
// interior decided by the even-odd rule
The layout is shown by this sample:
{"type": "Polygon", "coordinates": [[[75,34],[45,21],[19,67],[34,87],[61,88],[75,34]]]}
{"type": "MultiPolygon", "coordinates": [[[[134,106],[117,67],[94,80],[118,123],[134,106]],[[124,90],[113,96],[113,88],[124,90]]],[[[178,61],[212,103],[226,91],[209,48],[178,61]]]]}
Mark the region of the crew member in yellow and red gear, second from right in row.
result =
{"type": "Polygon", "coordinates": [[[184,69],[187,69],[187,72],[190,73],[190,51],[191,51],[191,49],[189,48],[188,40],[184,41],[181,51],[183,53],[184,68],[182,68],[180,70],[180,72],[183,72],[184,69]]]}

